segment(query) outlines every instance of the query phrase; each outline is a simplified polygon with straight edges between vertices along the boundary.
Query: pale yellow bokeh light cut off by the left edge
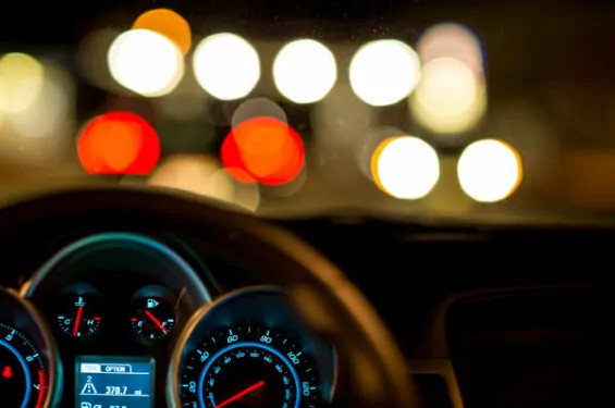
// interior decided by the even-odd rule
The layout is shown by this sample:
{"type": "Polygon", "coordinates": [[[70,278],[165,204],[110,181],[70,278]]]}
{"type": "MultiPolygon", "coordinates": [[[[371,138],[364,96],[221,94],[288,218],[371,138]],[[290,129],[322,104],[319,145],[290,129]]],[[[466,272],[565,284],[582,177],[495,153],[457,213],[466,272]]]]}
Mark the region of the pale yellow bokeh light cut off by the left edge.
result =
{"type": "Polygon", "coordinates": [[[42,64],[34,57],[13,52],[0,58],[0,112],[30,108],[40,95],[44,77],[42,64]]]}

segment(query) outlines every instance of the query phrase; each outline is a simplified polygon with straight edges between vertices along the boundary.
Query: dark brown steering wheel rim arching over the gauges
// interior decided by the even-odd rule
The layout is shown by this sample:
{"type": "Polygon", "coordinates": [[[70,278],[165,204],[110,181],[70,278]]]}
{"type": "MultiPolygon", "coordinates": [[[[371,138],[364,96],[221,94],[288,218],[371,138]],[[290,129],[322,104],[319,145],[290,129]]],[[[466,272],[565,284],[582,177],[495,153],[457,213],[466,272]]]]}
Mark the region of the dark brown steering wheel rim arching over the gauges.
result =
{"type": "Polygon", "coordinates": [[[137,224],[198,236],[268,271],[269,283],[287,289],[306,321],[339,350],[333,406],[416,406],[404,358],[361,293],[310,246],[249,214],[177,191],[88,187],[4,207],[0,244],[10,247],[20,234],[58,233],[66,225],[103,230],[137,224]]]}

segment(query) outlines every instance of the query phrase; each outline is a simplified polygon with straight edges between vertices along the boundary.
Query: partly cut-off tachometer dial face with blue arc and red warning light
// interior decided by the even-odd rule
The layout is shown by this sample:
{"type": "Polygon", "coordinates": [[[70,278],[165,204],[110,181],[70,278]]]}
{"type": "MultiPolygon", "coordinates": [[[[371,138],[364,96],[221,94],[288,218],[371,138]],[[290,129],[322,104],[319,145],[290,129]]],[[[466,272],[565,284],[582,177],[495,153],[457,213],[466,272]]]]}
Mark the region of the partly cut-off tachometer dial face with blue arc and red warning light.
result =
{"type": "Polygon", "coordinates": [[[34,343],[0,323],[0,396],[2,407],[42,408],[49,372],[34,343]]]}

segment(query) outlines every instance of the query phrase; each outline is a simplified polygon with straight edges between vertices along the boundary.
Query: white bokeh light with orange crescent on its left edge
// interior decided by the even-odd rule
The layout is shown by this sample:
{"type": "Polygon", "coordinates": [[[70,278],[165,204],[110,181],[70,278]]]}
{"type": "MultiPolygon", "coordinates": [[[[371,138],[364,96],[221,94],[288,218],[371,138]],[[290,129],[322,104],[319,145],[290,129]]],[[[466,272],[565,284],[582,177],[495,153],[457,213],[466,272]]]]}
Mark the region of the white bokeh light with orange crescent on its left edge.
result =
{"type": "Polygon", "coordinates": [[[386,194],[403,199],[427,196],[440,178],[435,150],[418,137],[385,139],[373,152],[371,171],[376,184],[386,194]]]}

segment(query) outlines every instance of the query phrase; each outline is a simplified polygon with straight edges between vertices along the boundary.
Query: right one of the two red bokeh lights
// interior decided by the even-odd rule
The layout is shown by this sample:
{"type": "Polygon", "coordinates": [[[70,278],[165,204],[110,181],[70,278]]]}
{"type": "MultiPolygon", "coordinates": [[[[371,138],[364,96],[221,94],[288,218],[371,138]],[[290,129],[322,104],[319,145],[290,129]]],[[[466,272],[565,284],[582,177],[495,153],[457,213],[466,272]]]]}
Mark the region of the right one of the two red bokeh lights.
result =
{"type": "Polygon", "coordinates": [[[222,144],[222,164],[243,183],[280,185],[302,171],[305,149],[300,136],[286,123],[258,116],[236,125],[222,144]]]}

